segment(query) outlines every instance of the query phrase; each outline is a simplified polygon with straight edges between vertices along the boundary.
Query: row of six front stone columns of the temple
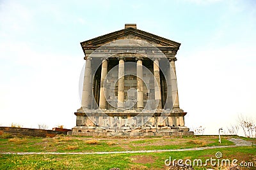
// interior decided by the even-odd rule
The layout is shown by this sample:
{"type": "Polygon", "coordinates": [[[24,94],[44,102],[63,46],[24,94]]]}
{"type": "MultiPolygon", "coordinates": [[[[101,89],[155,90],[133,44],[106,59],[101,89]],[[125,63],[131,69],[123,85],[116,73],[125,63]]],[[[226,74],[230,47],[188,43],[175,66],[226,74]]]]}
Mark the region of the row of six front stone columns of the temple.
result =
{"type": "MultiPolygon", "coordinates": [[[[117,108],[122,110],[124,109],[124,69],[125,69],[125,58],[118,57],[118,102],[117,108]]],[[[170,67],[167,71],[167,101],[168,104],[172,104],[172,108],[179,109],[179,95],[177,89],[177,78],[175,70],[175,60],[176,58],[169,59],[170,67]],[[170,90],[171,89],[171,90],[170,90]]],[[[107,91],[106,85],[104,85],[105,78],[108,74],[108,59],[102,59],[101,64],[101,73],[100,73],[100,82],[99,80],[93,81],[92,77],[92,58],[86,57],[86,64],[84,70],[84,82],[83,82],[83,92],[82,92],[82,101],[81,105],[85,109],[91,109],[92,104],[95,103],[93,93],[97,96],[97,103],[99,103],[99,108],[104,110],[106,109],[106,96],[107,91]],[[100,85],[99,85],[100,84],[100,85]]],[[[137,74],[137,109],[142,110],[143,106],[143,57],[136,57],[136,74],[137,74]]],[[[161,81],[160,81],[160,69],[159,69],[159,58],[154,58],[154,91],[155,91],[155,101],[156,108],[162,109],[162,95],[161,95],[161,81]]],[[[162,90],[163,92],[163,90],[162,90]]]]}

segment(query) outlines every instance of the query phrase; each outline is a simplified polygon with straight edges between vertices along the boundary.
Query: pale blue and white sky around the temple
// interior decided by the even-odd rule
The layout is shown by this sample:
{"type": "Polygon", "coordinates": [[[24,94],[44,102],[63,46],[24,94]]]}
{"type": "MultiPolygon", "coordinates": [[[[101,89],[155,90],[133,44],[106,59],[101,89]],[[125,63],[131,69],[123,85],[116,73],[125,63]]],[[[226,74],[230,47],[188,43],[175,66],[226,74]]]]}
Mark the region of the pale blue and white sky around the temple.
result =
{"type": "Polygon", "coordinates": [[[80,107],[81,41],[136,23],[181,43],[187,127],[216,134],[237,115],[256,122],[256,1],[0,1],[0,125],[72,128],[80,107]]]}

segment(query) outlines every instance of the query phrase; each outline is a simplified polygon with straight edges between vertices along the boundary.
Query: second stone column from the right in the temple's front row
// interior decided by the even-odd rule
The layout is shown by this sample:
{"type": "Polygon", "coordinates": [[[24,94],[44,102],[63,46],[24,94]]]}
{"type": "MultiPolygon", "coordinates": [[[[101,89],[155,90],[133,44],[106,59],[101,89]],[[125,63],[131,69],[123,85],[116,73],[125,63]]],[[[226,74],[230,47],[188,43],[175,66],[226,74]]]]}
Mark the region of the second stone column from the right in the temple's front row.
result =
{"type": "Polygon", "coordinates": [[[161,101],[161,85],[160,85],[160,70],[159,70],[159,58],[154,59],[154,77],[155,77],[155,101],[156,108],[162,108],[161,101]]]}

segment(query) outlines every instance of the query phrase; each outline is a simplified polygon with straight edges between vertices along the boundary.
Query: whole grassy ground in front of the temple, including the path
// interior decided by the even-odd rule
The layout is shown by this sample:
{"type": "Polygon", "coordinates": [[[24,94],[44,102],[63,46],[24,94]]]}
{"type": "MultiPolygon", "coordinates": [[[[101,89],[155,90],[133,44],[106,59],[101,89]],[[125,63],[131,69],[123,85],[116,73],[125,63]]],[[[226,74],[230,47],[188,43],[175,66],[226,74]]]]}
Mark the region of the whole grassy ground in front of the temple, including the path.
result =
{"type": "MultiPolygon", "coordinates": [[[[56,136],[31,138],[2,135],[0,169],[168,169],[170,159],[237,159],[256,169],[256,139],[238,136],[186,136],[159,138],[92,138],[56,136]]],[[[217,168],[207,164],[204,167],[217,168]]],[[[226,166],[219,166],[219,168],[226,166]]],[[[202,169],[201,166],[193,166],[202,169]]],[[[240,169],[248,169],[241,167],[240,169]]]]}

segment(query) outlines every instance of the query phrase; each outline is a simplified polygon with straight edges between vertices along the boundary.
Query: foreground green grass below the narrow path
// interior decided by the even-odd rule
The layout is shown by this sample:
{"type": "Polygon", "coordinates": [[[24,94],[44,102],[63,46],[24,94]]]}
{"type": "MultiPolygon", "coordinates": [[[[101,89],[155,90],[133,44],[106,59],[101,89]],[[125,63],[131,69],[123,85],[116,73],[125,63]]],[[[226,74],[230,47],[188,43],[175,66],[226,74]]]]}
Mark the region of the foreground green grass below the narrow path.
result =
{"type": "MultiPolygon", "coordinates": [[[[255,160],[255,146],[236,148],[218,148],[186,152],[163,153],[127,153],[111,155],[0,155],[0,169],[165,169],[164,160],[173,159],[210,159],[216,152],[223,154],[223,159],[255,160]],[[134,162],[134,157],[150,160],[150,163],[134,162]]],[[[207,167],[211,167],[208,165],[207,167]]],[[[201,167],[194,167],[201,169],[201,167]]]]}

